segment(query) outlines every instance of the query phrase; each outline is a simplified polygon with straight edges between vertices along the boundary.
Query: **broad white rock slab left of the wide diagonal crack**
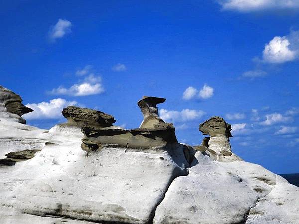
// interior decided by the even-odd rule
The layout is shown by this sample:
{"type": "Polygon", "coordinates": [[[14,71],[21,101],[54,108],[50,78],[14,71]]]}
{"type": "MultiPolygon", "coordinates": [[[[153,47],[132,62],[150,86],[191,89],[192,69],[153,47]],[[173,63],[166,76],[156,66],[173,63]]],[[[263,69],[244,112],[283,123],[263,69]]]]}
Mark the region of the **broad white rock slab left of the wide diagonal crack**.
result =
{"type": "Polygon", "coordinates": [[[172,180],[186,175],[182,146],[168,151],[104,148],[87,154],[80,129],[55,126],[35,157],[0,168],[0,201],[22,214],[147,223],[172,180]],[[171,155],[170,155],[171,154],[171,155]]]}

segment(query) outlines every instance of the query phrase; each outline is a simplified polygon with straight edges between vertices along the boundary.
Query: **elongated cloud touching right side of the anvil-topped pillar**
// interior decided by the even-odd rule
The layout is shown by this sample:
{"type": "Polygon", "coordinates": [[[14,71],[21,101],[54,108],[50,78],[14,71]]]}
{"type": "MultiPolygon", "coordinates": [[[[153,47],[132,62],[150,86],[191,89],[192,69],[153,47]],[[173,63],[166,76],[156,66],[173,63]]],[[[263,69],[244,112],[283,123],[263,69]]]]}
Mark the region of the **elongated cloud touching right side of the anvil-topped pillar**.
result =
{"type": "Polygon", "coordinates": [[[183,109],[182,111],[168,111],[161,109],[160,117],[167,122],[184,122],[201,118],[205,112],[201,110],[183,109]]]}

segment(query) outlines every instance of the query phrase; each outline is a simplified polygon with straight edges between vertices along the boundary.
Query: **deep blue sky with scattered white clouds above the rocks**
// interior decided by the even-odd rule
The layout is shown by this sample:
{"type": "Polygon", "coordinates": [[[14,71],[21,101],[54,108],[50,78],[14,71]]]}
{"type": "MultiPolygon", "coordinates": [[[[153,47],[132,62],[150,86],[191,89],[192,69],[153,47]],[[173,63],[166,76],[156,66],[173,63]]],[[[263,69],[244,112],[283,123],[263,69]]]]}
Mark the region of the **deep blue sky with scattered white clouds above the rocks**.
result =
{"type": "Polygon", "coordinates": [[[298,0],[2,1],[0,16],[0,84],[35,109],[28,124],[76,104],[136,128],[136,102],[165,97],[179,141],[222,116],[244,160],[299,173],[298,0]]]}

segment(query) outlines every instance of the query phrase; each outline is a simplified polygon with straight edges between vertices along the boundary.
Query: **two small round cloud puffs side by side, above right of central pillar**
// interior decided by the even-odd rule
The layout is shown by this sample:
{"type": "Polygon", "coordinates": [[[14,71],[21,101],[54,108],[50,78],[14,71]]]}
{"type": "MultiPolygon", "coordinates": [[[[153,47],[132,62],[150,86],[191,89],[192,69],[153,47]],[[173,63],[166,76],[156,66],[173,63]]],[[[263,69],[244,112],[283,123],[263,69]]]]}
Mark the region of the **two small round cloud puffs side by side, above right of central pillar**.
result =
{"type": "Polygon", "coordinates": [[[183,93],[184,100],[191,100],[193,98],[208,99],[214,95],[214,88],[204,84],[204,86],[198,90],[195,87],[189,86],[183,93]]]}

